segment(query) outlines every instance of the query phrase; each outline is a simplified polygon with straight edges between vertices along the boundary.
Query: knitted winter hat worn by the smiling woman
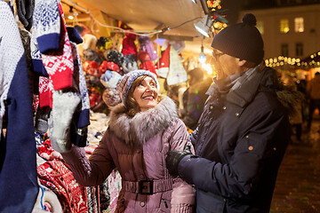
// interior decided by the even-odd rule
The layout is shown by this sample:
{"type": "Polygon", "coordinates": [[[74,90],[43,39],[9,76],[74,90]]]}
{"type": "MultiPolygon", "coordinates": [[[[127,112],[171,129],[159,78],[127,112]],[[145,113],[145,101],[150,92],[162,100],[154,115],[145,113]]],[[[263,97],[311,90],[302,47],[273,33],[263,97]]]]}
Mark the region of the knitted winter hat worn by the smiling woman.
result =
{"type": "Polygon", "coordinates": [[[124,106],[126,106],[126,99],[128,98],[128,93],[129,90],[132,86],[132,83],[134,82],[134,80],[136,80],[140,75],[148,75],[150,77],[152,77],[155,82],[156,82],[156,88],[157,90],[160,89],[160,85],[156,79],[156,75],[149,72],[148,70],[134,70],[130,73],[127,73],[126,75],[124,75],[117,83],[116,85],[116,91],[119,91],[120,93],[120,98],[122,100],[122,102],[124,103],[124,106]]]}

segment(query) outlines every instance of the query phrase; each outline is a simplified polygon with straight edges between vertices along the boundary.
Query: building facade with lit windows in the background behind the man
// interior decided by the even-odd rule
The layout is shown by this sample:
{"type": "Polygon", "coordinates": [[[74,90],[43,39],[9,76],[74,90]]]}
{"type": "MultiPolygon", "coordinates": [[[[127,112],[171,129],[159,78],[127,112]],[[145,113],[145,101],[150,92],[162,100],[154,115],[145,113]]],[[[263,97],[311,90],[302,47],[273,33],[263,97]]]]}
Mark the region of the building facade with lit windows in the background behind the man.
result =
{"type": "Polygon", "coordinates": [[[256,5],[239,14],[239,19],[247,12],[256,16],[257,28],[265,42],[265,59],[278,56],[304,59],[320,51],[320,1],[277,0],[265,5],[267,8],[256,5]]]}

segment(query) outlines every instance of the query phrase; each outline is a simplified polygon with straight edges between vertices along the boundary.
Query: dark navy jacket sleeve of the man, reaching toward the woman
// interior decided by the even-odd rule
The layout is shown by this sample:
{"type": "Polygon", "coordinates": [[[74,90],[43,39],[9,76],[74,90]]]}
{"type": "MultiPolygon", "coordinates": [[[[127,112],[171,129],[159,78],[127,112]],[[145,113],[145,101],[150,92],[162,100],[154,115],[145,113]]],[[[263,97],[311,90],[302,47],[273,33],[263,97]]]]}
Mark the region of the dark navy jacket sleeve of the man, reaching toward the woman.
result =
{"type": "Polygon", "coordinates": [[[261,178],[276,178],[290,130],[288,118],[281,112],[265,113],[258,120],[237,138],[228,163],[184,157],[178,168],[180,177],[196,188],[224,197],[250,198],[260,193],[256,186],[261,178]]]}

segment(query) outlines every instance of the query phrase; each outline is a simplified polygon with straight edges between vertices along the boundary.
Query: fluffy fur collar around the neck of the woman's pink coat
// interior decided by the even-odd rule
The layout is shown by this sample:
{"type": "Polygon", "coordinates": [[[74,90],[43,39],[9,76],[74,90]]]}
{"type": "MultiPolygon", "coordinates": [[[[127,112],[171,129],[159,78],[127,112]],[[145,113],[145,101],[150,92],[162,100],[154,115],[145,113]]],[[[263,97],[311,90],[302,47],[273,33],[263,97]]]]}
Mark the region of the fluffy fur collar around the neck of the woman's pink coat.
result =
{"type": "Polygon", "coordinates": [[[126,145],[139,146],[167,129],[172,121],[179,118],[177,106],[172,99],[165,98],[155,107],[135,114],[125,114],[123,104],[115,106],[110,112],[109,128],[117,138],[124,140],[126,145]]]}

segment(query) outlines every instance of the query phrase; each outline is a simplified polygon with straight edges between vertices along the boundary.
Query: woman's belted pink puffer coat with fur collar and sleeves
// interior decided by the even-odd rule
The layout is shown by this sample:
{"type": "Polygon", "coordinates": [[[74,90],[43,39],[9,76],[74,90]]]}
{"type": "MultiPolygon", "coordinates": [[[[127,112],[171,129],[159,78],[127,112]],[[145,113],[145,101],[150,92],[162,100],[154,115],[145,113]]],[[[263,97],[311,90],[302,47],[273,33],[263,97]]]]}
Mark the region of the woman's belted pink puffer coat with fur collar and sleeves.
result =
{"type": "Polygon", "coordinates": [[[118,212],[192,212],[193,186],[171,177],[165,168],[169,150],[191,146],[172,99],[132,118],[124,112],[123,105],[112,110],[109,128],[90,162],[83,148],[73,146],[71,152],[62,154],[76,180],[81,185],[100,185],[116,168],[123,186],[118,212]]]}

